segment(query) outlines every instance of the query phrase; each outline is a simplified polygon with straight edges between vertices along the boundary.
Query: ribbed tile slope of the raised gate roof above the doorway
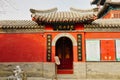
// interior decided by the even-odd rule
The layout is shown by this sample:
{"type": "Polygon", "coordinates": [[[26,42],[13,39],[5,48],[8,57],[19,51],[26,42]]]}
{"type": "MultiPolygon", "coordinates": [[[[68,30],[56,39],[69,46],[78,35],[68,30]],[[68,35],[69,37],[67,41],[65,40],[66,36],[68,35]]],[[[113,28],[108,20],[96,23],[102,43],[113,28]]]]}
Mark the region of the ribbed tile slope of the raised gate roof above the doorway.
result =
{"type": "Polygon", "coordinates": [[[91,14],[79,14],[75,12],[59,12],[50,13],[46,15],[39,16],[39,21],[45,22],[84,22],[91,20],[95,15],[91,14]]]}

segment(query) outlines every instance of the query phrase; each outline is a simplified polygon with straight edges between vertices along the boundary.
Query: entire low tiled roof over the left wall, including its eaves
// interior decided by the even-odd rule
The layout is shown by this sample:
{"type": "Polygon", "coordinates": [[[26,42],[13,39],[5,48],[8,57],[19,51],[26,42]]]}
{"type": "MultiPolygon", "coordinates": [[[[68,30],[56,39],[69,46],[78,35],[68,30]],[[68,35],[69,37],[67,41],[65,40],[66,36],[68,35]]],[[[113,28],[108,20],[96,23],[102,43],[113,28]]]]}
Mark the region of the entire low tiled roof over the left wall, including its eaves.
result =
{"type": "Polygon", "coordinates": [[[36,33],[43,32],[44,26],[30,20],[1,20],[0,33],[36,33]]]}

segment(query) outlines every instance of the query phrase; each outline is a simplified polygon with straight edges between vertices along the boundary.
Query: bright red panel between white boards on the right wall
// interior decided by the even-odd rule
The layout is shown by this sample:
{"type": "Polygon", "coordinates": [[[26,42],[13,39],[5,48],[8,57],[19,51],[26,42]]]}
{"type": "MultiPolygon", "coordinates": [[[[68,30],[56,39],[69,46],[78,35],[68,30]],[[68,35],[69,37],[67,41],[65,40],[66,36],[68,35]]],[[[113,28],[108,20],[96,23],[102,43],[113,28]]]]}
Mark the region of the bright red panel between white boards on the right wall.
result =
{"type": "Polygon", "coordinates": [[[101,60],[114,61],[115,60],[115,41],[101,40],[101,60]]]}

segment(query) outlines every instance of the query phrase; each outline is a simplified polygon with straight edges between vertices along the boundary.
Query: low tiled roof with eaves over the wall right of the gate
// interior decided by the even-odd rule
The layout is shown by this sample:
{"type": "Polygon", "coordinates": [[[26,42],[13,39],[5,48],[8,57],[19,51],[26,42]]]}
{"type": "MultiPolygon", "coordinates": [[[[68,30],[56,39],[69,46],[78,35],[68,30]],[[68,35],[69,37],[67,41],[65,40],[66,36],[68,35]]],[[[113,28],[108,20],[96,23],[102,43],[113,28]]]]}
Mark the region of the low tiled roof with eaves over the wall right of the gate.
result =
{"type": "Polygon", "coordinates": [[[84,27],[85,31],[90,32],[120,32],[120,19],[97,19],[84,27]]]}

